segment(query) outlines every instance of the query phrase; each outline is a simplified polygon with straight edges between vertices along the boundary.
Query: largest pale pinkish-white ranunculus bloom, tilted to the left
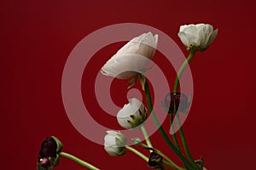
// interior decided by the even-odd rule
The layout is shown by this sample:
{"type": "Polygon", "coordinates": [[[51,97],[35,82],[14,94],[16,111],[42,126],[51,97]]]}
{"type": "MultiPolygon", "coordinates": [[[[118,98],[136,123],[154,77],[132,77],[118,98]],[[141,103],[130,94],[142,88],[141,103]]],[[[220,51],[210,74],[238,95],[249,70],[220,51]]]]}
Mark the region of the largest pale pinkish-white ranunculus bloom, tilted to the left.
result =
{"type": "Polygon", "coordinates": [[[144,68],[148,59],[153,58],[157,42],[158,35],[153,36],[151,32],[133,38],[102,66],[102,74],[119,79],[136,76],[137,71],[144,68]]]}

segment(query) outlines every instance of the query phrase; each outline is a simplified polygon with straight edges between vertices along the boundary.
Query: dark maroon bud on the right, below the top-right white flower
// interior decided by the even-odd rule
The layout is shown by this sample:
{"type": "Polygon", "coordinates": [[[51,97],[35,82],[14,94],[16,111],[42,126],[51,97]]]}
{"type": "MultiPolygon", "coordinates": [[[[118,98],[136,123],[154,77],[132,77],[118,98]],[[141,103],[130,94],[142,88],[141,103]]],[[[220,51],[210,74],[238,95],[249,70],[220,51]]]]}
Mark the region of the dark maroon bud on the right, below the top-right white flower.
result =
{"type": "Polygon", "coordinates": [[[189,108],[187,96],[179,92],[166,94],[165,105],[168,113],[176,113],[177,111],[186,113],[189,108]]]}

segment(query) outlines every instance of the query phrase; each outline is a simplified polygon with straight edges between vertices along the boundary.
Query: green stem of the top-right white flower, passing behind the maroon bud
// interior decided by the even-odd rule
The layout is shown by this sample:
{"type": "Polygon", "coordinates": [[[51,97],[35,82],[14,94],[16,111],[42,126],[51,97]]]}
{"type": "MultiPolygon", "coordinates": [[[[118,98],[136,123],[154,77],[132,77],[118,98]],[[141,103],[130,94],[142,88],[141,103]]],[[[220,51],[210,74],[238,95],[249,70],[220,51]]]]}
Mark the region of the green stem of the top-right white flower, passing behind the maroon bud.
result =
{"type": "MultiPolygon", "coordinates": [[[[182,77],[183,71],[189,65],[189,62],[195,56],[195,52],[196,52],[195,50],[191,50],[188,58],[183,62],[183,65],[180,67],[179,71],[177,72],[177,77],[176,77],[176,80],[174,82],[174,87],[173,87],[173,93],[177,93],[177,88],[178,88],[178,85],[179,85],[179,79],[182,77]]],[[[173,117],[172,116],[170,116],[170,119],[171,119],[171,121],[173,121],[173,117]]],[[[180,137],[182,139],[183,148],[185,150],[185,153],[189,157],[189,161],[193,164],[193,166],[198,169],[197,165],[195,164],[195,161],[194,161],[193,157],[191,156],[191,154],[189,152],[189,147],[188,147],[187,141],[185,139],[185,135],[183,133],[183,128],[181,126],[178,114],[177,114],[177,126],[179,128],[178,132],[180,133],[180,137]]]]}

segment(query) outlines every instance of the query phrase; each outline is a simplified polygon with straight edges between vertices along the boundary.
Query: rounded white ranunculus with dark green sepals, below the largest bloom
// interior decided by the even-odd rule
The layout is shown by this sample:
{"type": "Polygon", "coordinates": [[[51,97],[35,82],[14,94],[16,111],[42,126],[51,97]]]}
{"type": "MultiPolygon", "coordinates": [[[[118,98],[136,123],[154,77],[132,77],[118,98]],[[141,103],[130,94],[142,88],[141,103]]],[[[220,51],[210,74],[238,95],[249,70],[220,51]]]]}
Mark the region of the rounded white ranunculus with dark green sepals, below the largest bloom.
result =
{"type": "Polygon", "coordinates": [[[138,127],[147,119],[147,110],[143,103],[138,99],[129,99],[129,104],[118,112],[117,120],[121,127],[131,129],[138,127]]]}

